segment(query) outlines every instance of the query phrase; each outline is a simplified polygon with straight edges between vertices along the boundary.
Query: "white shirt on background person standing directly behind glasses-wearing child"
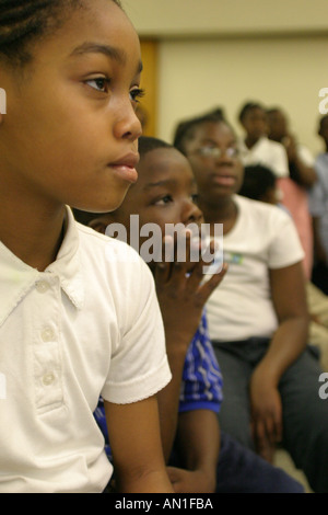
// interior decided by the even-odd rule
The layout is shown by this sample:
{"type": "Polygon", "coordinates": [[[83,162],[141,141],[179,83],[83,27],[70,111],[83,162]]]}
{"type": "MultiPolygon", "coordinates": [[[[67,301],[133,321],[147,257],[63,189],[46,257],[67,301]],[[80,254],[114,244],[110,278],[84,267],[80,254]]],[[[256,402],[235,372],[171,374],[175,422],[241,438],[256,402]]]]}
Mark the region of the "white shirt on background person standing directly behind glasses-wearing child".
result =
{"type": "Polygon", "coordinates": [[[261,137],[249,149],[244,141],[239,141],[241,159],[245,167],[249,164],[262,164],[268,167],[277,178],[290,175],[289,161],[283,145],[261,137]]]}

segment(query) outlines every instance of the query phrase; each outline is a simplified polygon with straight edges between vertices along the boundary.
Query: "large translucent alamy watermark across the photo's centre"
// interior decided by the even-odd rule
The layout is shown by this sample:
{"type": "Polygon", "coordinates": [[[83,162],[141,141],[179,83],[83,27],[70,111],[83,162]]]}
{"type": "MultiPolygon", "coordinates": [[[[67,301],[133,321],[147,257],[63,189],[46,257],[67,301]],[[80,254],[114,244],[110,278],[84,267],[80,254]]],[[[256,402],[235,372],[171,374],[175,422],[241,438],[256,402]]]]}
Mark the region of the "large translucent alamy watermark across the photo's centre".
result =
{"type": "MultiPolygon", "coordinates": [[[[130,215],[129,234],[122,224],[109,224],[106,234],[129,243],[145,263],[204,263],[204,274],[218,274],[223,266],[223,225],[215,224],[210,234],[210,225],[165,224],[164,233],[157,224],[144,224],[140,227],[139,215],[130,215]],[[213,241],[212,247],[210,240],[213,241]]],[[[133,254],[114,255],[107,253],[108,261],[127,262],[133,254]]]]}

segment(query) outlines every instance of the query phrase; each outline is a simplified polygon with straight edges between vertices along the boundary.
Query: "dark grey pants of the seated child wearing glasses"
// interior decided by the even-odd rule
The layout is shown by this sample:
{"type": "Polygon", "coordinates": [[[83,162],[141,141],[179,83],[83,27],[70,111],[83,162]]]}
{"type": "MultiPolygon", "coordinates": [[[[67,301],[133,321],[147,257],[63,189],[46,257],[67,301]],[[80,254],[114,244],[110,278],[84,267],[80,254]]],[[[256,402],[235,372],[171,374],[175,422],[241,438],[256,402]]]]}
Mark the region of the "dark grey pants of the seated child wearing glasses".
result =
{"type": "MultiPolygon", "coordinates": [[[[222,431],[254,448],[250,434],[248,385],[268,339],[213,342],[223,381],[224,400],[219,414],[222,431]]],[[[314,492],[328,492],[328,400],[320,399],[321,369],[316,350],[308,346],[282,376],[279,390],[283,413],[283,447],[302,469],[314,492]]]]}

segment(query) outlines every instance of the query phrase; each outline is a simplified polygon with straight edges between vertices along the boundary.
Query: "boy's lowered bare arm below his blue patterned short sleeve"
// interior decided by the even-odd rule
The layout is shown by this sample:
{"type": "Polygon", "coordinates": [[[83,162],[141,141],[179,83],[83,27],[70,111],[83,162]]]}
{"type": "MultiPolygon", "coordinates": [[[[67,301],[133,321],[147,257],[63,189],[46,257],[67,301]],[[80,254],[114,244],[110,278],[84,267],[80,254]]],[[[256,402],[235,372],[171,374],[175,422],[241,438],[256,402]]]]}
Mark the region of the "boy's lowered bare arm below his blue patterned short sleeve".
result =
{"type": "Polygon", "coordinates": [[[216,414],[210,410],[180,413],[177,442],[184,467],[187,470],[202,471],[214,488],[220,453],[216,414]]]}

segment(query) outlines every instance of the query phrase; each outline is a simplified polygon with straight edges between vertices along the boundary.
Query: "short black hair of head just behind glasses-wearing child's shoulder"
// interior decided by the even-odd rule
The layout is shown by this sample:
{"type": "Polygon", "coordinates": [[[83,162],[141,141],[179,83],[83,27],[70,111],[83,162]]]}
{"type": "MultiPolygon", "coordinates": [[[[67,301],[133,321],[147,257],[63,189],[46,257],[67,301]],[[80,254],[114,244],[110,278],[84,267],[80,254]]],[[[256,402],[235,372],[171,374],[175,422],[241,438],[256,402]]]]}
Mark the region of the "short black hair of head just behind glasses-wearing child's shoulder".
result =
{"type": "Polygon", "coordinates": [[[244,169],[244,181],[238,194],[260,201],[276,183],[277,179],[271,169],[262,164],[251,164],[244,169]]]}

